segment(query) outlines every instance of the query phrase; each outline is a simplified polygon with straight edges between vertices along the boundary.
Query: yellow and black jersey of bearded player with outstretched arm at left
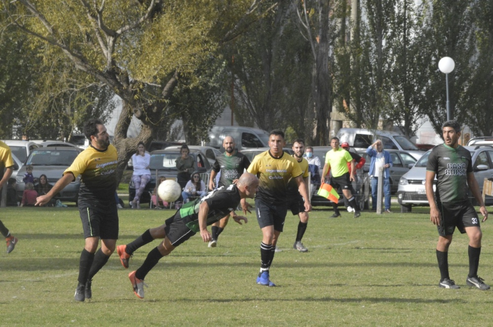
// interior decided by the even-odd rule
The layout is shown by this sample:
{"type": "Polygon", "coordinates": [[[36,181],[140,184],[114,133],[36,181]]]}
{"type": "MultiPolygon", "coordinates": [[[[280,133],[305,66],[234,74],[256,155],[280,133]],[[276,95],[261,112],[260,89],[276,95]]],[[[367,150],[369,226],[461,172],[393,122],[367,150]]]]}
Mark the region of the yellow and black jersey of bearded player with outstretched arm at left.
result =
{"type": "Polygon", "coordinates": [[[111,204],[116,202],[117,165],[118,154],[111,144],[106,150],[89,146],[79,153],[63,173],[72,173],[75,178],[80,175],[79,206],[86,201],[95,205],[104,203],[105,206],[108,201],[111,204]]]}

